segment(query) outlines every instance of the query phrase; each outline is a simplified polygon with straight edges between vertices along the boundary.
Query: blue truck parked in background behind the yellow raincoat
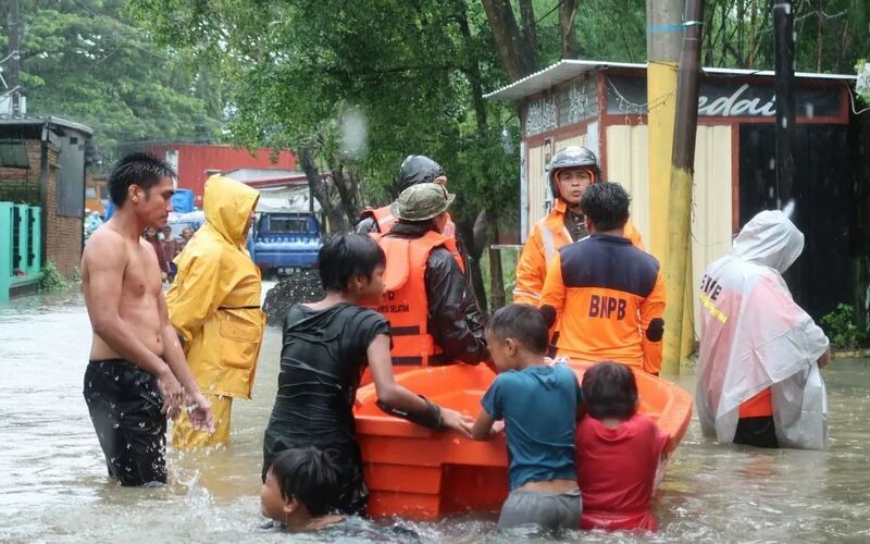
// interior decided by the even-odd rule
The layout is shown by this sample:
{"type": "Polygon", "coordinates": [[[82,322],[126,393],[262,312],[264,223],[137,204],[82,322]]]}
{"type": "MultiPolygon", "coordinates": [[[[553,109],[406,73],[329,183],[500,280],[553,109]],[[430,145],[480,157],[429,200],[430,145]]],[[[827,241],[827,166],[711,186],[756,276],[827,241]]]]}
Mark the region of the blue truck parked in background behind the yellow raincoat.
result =
{"type": "Polygon", "coordinates": [[[268,212],[257,221],[253,262],[263,275],[316,267],[321,230],[311,212],[268,212]]]}

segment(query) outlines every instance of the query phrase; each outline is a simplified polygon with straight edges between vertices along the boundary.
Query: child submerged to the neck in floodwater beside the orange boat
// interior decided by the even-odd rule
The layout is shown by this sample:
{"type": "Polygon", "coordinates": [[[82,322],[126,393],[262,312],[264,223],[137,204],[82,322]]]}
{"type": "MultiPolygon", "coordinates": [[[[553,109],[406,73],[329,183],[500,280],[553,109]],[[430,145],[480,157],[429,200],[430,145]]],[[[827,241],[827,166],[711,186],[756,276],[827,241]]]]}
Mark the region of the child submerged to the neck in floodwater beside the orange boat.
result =
{"type": "Polygon", "coordinates": [[[262,514],[290,532],[334,526],[344,519],[331,514],[338,480],[338,470],[325,452],[315,447],[285,449],[266,471],[260,492],[262,514]]]}

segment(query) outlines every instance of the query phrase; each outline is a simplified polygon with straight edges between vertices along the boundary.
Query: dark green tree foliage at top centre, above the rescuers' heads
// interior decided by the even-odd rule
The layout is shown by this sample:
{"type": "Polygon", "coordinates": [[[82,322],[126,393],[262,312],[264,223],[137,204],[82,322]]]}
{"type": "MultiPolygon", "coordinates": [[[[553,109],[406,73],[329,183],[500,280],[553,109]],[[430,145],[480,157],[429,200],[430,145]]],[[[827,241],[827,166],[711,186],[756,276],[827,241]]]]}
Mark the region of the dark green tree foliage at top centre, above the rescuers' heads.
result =
{"type": "Polygon", "coordinates": [[[310,148],[322,165],[362,175],[370,203],[389,198],[398,166],[428,154],[447,170],[456,214],[513,210],[519,157],[512,104],[484,101],[506,83],[477,1],[133,0],[142,24],[233,74],[233,139],[244,146],[310,148]],[[360,111],[368,153],[341,148],[339,120],[360,111]]]}

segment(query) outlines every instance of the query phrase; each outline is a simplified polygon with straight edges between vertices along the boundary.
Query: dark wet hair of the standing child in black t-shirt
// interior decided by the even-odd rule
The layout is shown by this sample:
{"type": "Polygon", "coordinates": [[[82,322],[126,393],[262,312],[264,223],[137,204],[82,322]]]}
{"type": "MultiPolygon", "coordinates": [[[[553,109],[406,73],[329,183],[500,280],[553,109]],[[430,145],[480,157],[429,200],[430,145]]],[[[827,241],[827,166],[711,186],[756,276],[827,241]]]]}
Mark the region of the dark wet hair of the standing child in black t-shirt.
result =
{"type": "Polygon", "coordinates": [[[351,277],[371,277],[374,269],[385,267],[387,258],[381,246],[364,234],[336,234],[318,254],[318,268],[323,288],[334,293],[347,290],[351,277]]]}

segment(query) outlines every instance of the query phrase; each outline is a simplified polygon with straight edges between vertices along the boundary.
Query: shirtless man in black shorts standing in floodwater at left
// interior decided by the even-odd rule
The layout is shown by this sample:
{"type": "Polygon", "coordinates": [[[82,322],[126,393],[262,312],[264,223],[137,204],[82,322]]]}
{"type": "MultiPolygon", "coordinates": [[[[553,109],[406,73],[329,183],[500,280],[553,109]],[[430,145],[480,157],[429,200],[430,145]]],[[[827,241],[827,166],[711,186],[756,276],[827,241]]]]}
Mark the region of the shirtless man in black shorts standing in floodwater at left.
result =
{"type": "Polygon", "coordinates": [[[82,256],[94,329],[85,401],[109,474],[121,485],[166,482],[166,418],[185,408],[185,398],[191,423],[213,428],[166,313],[157,255],[140,236],[165,224],[174,177],[151,154],[124,158],[108,182],[115,213],[82,256]]]}

